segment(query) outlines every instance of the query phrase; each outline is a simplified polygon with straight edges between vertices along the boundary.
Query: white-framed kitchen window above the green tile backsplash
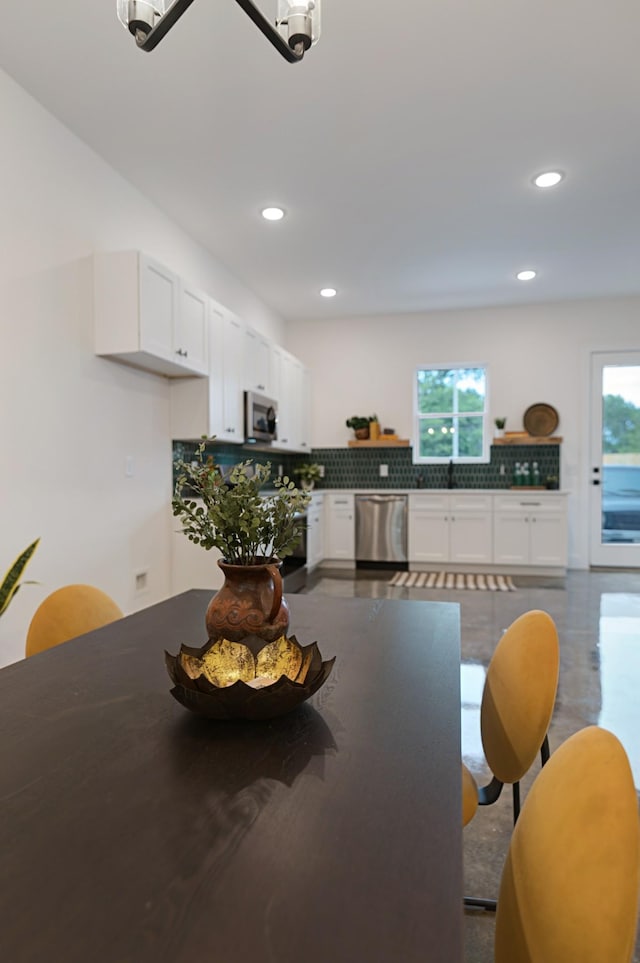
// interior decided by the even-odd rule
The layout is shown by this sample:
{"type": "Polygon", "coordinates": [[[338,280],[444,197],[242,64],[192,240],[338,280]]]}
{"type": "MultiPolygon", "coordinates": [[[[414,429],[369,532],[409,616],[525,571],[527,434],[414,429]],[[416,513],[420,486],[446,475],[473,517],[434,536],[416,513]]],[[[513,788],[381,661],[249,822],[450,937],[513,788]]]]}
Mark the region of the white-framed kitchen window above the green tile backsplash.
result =
{"type": "Polygon", "coordinates": [[[489,460],[483,365],[418,368],[415,412],[416,463],[489,460]]]}

